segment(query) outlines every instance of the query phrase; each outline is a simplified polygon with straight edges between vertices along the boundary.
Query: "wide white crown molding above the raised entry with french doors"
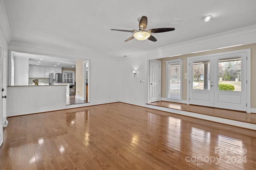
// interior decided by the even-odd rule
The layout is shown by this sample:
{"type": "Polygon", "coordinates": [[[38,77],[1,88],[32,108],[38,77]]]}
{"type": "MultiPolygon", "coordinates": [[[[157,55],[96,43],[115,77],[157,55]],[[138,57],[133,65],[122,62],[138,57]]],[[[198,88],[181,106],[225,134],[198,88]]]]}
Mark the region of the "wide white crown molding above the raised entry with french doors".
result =
{"type": "Polygon", "coordinates": [[[147,56],[161,59],[252,43],[256,43],[256,25],[154,49],[148,51],[147,56]]]}

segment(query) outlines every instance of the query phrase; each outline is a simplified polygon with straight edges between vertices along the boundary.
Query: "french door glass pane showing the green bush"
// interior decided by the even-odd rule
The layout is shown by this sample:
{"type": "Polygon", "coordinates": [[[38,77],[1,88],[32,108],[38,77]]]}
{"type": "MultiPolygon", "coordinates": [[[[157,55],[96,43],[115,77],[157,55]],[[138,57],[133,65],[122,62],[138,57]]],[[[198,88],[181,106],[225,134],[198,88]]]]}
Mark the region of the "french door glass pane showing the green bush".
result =
{"type": "Polygon", "coordinates": [[[241,92],[241,58],[219,60],[219,90],[241,92]]]}

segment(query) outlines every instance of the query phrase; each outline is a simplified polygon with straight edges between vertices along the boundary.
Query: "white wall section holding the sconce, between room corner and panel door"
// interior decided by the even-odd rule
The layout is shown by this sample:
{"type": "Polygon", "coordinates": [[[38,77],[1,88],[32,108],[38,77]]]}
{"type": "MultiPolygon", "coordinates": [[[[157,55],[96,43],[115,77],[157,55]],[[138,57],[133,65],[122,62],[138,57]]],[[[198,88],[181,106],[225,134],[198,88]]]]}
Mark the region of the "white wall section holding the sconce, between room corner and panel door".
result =
{"type": "Polygon", "coordinates": [[[131,59],[127,57],[127,59],[120,61],[119,70],[121,78],[120,102],[144,106],[148,102],[147,56],[137,56],[131,59]],[[137,70],[135,76],[133,70],[137,70]]]}

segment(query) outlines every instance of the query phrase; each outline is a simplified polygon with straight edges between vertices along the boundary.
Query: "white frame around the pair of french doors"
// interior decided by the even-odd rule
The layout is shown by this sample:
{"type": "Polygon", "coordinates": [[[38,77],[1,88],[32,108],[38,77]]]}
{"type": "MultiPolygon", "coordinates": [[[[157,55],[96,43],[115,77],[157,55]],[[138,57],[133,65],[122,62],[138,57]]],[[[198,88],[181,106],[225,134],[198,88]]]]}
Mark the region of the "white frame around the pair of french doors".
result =
{"type": "Polygon", "coordinates": [[[188,79],[187,79],[187,104],[190,104],[189,98],[190,98],[190,69],[189,69],[189,63],[192,59],[197,58],[204,58],[204,57],[214,57],[214,56],[222,56],[222,55],[231,55],[231,54],[237,54],[237,53],[246,53],[246,112],[251,112],[251,49],[242,49],[242,50],[236,50],[236,51],[228,51],[224,53],[216,53],[216,54],[210,54],[210,55],[201,55],[196,57],[189,57],[187,59],[187,72],[188,72],[188,79]]]}

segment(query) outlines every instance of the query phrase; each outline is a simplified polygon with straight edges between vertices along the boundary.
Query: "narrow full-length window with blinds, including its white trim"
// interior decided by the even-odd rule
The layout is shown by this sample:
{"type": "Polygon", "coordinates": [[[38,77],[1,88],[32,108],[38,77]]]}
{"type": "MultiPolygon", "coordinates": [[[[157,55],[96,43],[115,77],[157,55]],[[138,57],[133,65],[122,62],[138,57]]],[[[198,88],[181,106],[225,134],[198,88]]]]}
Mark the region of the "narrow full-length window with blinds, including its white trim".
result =
{"type": "Polygon", "coordinates": [[[182,60],[166,61],[167,98],[181,100],[182,96],[182,60]]]}

